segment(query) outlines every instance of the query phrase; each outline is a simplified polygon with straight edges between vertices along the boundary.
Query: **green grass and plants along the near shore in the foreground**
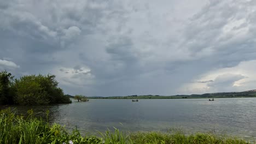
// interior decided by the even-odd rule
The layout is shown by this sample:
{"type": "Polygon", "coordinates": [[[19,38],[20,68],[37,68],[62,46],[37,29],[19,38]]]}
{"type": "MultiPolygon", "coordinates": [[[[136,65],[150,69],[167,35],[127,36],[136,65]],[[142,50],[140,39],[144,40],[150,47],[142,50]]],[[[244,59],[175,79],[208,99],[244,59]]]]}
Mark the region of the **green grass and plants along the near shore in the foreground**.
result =
{"type": "MultiPolygon", "coordinates": [[[[42,113],[40,113],[42,115],[42,113]]],[[[72,131],[59,124],[48,123],[49,111],[43,113],[46,117],[35,117],[32,110],[28,116],[15,115],[10,109],[0,111],[0,143],[248,143],[233,137],[218,136],[212,133],[184,135],[182,131],[138,132],[124,134],[118,129],[114,133],[106,131],[101,137],[82,136],[77,128],[72,131]]]]}

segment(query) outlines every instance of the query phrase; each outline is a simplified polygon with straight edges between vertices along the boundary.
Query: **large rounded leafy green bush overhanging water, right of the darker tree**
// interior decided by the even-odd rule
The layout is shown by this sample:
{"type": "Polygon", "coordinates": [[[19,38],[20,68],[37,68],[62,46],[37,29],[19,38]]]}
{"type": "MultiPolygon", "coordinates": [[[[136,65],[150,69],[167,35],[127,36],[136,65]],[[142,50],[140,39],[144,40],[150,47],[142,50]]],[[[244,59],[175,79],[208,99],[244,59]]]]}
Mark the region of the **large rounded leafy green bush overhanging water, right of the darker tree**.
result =
{"type": "Polygon", "coordinates": [[[22,76],[19,80],[15,80],[17,89],[15,102],[21,105],[71,103],[57,85],[55,75],[22,76]]]}

